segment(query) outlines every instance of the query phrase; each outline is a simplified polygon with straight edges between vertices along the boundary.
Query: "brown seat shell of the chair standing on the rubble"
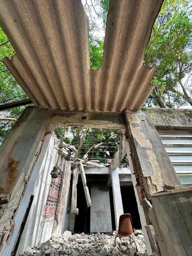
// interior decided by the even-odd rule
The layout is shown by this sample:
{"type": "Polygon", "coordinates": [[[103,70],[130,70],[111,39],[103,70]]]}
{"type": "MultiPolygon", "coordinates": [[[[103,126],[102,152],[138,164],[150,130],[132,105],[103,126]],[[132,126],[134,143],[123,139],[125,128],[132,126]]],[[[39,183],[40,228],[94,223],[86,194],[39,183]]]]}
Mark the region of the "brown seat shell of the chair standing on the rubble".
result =
{"type": "Polygon", "coordinates": [[[134,233],[131,214],[125,213],[119,217],[119,229],[117,236],[129,237],[134,233]]]}

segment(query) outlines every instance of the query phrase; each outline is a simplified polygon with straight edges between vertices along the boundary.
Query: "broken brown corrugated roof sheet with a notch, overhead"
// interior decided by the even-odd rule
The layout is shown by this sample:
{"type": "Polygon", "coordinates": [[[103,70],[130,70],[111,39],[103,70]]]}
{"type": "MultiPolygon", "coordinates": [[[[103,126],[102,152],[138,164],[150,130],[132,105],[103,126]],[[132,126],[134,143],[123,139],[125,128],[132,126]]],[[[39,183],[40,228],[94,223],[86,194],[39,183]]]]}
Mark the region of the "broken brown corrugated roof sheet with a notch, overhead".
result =
{"type": "Polygon", "coordinates": [[[90,69],[88,17],[79,0],[1,0],[0,25],[16,54],[5,66],[35,105],[138,110],[155,68],[143,56],[163,0],[111,0],[103,64],[90,69]]]}

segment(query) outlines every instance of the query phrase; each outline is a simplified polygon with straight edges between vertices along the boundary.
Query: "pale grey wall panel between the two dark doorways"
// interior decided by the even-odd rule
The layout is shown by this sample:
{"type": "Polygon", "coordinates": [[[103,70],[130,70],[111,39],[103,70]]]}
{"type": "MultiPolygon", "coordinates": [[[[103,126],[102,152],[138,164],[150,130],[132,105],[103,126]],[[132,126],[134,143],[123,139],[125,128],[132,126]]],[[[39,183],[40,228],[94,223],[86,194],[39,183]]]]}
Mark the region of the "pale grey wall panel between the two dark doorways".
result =
{"type": "Polygon", "coordinates": [[[111,209],[109,191],[105,184],[92,185],[91,187],[91,218],[90,232],[111,232],[111,209]]]}

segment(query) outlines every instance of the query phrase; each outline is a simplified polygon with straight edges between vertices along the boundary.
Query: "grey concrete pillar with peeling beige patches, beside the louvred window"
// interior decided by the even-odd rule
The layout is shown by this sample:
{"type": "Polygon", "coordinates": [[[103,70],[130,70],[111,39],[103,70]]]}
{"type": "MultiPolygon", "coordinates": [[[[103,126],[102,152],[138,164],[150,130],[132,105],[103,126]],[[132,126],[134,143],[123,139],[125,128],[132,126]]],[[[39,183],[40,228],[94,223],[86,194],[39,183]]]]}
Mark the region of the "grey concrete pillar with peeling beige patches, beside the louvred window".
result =
{"type": "Polygon", "coordinates": [[[128,133],[146,196],[182,185],[150,117],[142,111],[125,110],[128,133]]]}

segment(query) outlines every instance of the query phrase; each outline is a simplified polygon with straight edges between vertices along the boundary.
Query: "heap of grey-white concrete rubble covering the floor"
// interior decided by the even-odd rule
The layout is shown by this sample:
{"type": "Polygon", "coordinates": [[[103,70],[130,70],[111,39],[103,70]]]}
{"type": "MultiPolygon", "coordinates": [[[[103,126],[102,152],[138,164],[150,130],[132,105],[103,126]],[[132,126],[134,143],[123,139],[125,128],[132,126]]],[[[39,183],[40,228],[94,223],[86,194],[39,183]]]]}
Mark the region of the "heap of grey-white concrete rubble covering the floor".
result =
{"type": "Polygon", "coordinates": [[[121,249],[120,241],[117,237],[117,231],[112,234],[75,234],[65,231],[59,237],[51,237],[50,240],[34,247],[28,246],[22,256],[143,256],[147,255],[143,233],[141,230],[135,230],[133,238],[135,239],[138,252],[136,252],[135,244],[130,244],[130,238],[122,238],[121,249]]]}

